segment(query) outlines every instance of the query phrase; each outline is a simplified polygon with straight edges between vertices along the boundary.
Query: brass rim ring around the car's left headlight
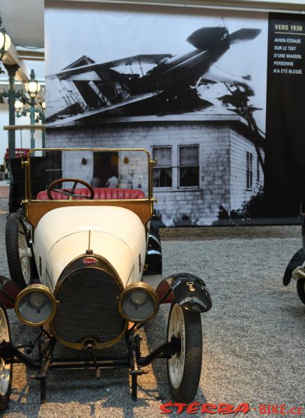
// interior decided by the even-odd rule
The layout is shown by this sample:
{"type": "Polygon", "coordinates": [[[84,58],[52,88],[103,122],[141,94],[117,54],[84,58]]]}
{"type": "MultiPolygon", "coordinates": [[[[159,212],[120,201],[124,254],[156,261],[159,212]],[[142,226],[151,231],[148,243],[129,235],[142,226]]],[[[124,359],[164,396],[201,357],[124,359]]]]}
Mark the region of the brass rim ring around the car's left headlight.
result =
{"type": "Polygon", "coordinates": [[[45,284],[40,284],[40,283],[30,284],[29,286],[26,286],[26,288],[24,288],[21,292],[18,293],[16,297],[16,302],[15,302],[15,314],[22,323],[29,325],[30,327],[41,327],[42,325],[45,325],[49,323],[50,321],[52,321],[52,319],[54,318],[56,314],[56,298],[53,295],[52,291],[47,286],[45,286],[45,284]],[[26,320],[19,311],[19,303],[20,303],[20,300],[22,300],[22,297],[24,297],[24,295],[27,295],[28,293],[33,293],[33,292],[44,293],[45,295],[47,295],[47,297],[49,297],[49,300],[52,302],[51,314],[46,320],[42,320],[39,323],[33,323],[32,321],[26,320]]]}

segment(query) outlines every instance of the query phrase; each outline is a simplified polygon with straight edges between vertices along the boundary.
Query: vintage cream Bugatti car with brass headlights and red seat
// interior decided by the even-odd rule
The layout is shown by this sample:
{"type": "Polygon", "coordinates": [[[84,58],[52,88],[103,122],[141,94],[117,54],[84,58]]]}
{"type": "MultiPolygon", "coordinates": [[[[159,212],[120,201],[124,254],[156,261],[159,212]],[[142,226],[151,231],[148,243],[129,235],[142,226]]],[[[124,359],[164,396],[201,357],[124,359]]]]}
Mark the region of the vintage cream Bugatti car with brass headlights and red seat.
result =
{"type": "Polygon", "coordinates": [[[22,209],[6,223],[11,280],[0,280],[0,407],[8,405],[14,363],[36,371],[41,403],[49,371],[95,369],[100,378],[109,367],[130,369],[136,400],[137,376],[160,357],[173,400],[189,403],[201,376],[201,313],[212,302],[193,274],[162,278],[149,153],[47,148],[31,150],[23,166],[22,209]],[[167,339],[142,356],[137,330],[169,302],[167,339]],[[11,307],[22,323],[40,327],[22,346],[26,354],[10,342],[11,307]],[[126,355],[101,356],[121,339],[126,355]],[[84,356],[56,358],[56,343],[84,356]]]}

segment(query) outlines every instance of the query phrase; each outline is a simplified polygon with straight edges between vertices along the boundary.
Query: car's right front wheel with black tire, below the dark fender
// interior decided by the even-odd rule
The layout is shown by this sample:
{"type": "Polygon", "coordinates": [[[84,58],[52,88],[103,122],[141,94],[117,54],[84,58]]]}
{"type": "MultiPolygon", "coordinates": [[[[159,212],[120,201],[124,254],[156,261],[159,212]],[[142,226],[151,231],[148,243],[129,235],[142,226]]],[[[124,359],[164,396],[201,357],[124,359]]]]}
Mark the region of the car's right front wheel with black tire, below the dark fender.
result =
{"type": "Polygon", "coordinates": [[[167,360],[167,378],[169,381],[169,389],[173,401],[190,403],[196,396],[199,380],[201,376],[201,363],[203,352],[203,337],[201,327],[201,314],[198,312],[187,311],[180,307],[176,302],[171,304],[169,311],[169,323],[167,325],[167,341],[171,341],[171,336],[185,339],[185,359],[181,357],[183,351],[183,343],[180,353],[174,355],[167,360]],[[183,318],[185,336],[181,336],[179,332],[173,332],[171,318],[173,315],[180,315],[183,318]],[[180,378],[175,375],[175,362],[182,362],[182,373],[180,378]],[[175,376],[177,378],[175,378],[175,376]]]}

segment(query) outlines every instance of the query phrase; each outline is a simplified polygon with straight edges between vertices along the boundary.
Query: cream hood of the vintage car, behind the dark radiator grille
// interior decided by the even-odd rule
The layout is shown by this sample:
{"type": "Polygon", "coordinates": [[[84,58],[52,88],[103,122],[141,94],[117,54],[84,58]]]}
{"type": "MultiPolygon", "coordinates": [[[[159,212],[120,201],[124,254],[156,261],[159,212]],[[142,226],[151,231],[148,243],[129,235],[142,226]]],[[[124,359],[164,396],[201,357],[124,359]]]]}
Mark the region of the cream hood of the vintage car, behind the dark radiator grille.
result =
{"type": "Polygon", "coordinates": [[[65,267],[88,249],[116,270],[123,286],[141,280],[146,233],[131,210],[115,206],[56,208],[38,222],[33,240],[42,284],[54,290],[65,267]]]}

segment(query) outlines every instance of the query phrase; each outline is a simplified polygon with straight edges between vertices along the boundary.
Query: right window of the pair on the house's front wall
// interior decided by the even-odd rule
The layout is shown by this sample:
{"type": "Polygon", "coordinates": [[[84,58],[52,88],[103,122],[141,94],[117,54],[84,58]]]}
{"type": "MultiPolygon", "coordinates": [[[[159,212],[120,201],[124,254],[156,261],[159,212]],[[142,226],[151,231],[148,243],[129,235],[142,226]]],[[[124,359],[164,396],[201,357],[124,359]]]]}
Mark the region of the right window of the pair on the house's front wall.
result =
{"type": "Polygon", "coordinates": [[[199,147],[198,145],[179,147],[179,187],[199,185],[199,147]]]}

